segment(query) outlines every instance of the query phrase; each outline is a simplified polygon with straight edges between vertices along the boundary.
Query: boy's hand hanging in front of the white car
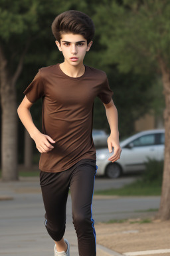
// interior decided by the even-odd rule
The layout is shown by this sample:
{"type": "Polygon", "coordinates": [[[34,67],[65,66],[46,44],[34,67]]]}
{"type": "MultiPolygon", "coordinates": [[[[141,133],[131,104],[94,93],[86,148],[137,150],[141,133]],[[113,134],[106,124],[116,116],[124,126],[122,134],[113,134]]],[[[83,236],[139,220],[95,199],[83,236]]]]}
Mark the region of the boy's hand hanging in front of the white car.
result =
{"type": "Polygon", "coordinates": [[[108,158],[109,161],[115,162],[118,159],[120,159],[120,154],[122,152],[122,148],[120,147],[119,139],[118,137],[114,137],[113,135],[110,135],[108,137],[108,149],[109,152],[112,152],[112,147],[114,147],[114,155],[108,158]]]}

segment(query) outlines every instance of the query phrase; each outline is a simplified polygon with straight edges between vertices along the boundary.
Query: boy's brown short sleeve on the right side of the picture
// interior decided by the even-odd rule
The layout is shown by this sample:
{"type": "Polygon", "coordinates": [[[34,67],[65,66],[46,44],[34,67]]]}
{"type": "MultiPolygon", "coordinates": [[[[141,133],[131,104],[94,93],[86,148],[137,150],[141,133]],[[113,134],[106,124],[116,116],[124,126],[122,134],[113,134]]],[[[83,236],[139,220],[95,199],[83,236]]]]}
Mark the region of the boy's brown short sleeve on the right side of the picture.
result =
{"type": "Polygon", "coordinates": [[[110,103],[113,94],[114,92],[110,89],[108,77],[106,75],[106,78],[104,79],[104,82],[102,83],[100,91],[97,96],[101,99],[101,101],[104,104],[108,104],[110,103]]]}

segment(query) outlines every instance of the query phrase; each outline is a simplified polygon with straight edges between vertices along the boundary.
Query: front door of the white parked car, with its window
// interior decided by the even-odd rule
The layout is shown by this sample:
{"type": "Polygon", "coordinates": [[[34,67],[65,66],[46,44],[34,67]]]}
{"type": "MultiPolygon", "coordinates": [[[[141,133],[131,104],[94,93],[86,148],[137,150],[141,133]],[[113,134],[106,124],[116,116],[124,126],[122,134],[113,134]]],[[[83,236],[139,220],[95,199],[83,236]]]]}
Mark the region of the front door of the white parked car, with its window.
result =
{"type": "Polygon", "coordinates": [[[147,157],[157,159],[157,154],[155,133],[141,135],[126,145],[126,170],[145,169],[144,161],[147,161],[147,157]]]}

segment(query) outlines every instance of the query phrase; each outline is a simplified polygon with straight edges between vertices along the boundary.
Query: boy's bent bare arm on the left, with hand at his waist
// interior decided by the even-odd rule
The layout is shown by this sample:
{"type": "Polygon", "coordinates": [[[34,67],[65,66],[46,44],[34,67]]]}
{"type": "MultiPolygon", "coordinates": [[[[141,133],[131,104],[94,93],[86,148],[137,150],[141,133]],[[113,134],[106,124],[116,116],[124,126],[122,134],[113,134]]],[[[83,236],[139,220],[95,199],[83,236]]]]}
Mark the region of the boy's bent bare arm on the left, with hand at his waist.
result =
{"type": "Polygon", "coordinates": [[[55,141],[50,138],[50,136],[42,134],[33,123],[33,119],[30,113],[30,108],[32,105],[33,103],[31,103],[25,96],[17,109],[17,113],[21,119],[21,122],[29,132],[29,135],[35,141],[37,149],[39,152],[43,153],[53,149],[53,146],[50,145],[48,141],[52,143],[55,143],[55,141]]]}

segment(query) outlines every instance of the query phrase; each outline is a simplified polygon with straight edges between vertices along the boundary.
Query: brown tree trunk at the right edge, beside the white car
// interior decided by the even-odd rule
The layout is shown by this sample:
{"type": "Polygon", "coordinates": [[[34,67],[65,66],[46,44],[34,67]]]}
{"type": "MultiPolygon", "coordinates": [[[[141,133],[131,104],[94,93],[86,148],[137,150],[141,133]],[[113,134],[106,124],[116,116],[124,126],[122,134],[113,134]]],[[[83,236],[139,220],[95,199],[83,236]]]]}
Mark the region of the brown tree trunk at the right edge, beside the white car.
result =
{"type": "Polygon", "coordinates": [[[161,202],[156,218],[162,221],[170,219],[170,70],[162,59],[159,60],[163,79],[163,94],[165,94],[165,110],[163,113],[165,123],[165,153],[163,167],[163,184],[161,202]]]}

